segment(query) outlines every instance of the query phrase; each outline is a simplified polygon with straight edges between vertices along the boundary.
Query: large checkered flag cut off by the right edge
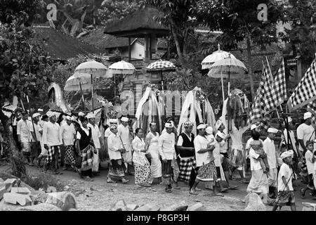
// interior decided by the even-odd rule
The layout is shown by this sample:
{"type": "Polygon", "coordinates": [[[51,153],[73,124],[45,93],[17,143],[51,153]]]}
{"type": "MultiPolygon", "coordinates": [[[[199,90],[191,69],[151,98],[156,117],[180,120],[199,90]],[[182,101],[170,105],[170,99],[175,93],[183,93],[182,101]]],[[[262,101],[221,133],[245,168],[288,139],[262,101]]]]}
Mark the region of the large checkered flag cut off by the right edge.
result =
{"type": "Polygon", "coordinates": [[[291,112],[314,100],[316,100],[316,60],[305,72],[301,82],[289,97],[287,105],[289,105],[289,111],[291,112]]]}

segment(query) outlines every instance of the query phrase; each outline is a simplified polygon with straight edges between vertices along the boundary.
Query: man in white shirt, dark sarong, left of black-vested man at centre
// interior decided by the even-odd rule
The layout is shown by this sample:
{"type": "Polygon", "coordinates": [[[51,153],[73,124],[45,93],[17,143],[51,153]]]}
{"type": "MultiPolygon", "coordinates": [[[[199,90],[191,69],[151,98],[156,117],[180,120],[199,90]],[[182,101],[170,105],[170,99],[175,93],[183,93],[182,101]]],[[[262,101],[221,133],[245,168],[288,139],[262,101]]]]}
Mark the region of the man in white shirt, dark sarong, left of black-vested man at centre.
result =
{"type": "Polygon", "coordinates": [[[165,191],[167,193],[172,192],[172,182],[178,187],[178,174],[179,168],[176,162],[176,150],[175,150],[175,134],[173,133],[173,124],[164,124],[166,133],[159,136],[158,146],[159,154],[162,157],[162,181],[166,185],[165,191]]]}

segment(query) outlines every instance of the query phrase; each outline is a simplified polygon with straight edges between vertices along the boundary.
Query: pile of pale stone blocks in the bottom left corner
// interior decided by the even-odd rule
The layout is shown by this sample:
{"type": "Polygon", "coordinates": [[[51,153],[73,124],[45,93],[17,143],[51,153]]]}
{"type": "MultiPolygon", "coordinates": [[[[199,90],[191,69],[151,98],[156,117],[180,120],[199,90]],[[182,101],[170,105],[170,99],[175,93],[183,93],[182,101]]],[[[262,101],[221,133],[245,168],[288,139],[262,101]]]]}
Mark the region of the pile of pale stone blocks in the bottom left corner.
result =
{"type": "Polygon", "coordinates": [[[74,195],[55,187],[35,191],[19,179],[0,178],[0,211],[69,211],[77,208],[74,195]],[[27,185],[25,185],[27,186],[27,185]]]}

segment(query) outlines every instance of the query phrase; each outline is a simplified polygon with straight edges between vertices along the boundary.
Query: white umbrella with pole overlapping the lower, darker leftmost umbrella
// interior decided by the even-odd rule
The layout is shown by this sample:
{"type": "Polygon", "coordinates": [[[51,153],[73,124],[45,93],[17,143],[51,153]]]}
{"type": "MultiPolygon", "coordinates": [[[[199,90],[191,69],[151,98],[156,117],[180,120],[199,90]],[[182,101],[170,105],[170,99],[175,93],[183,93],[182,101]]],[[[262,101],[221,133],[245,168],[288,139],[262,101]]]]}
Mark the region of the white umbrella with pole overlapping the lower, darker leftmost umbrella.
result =
{"type": "Polygon", "coordinates": [[[107,68],[102,63],[95,60],[81,63],[74,70],[74,77],[81,77],[82,74],[88,73],[91,75],[91,94],[92,94],[92,110],[93,110],[93,78],[96,77],[112,77],[112,74],[107,73],[107,68]]]}

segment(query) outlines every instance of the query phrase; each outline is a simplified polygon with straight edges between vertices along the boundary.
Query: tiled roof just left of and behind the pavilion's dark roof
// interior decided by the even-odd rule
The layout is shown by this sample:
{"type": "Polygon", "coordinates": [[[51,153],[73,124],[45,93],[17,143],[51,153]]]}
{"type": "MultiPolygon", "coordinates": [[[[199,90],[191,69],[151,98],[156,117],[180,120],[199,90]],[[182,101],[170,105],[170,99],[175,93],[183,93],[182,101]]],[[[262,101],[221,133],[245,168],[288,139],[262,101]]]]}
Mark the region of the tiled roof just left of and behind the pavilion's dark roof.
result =
{"type": "MultiPolygon", "coordinates": [[[[81,40],[103,50],[129,46],[129,38],[115,37],[110,34],[104,34],[103,32],[104,27],[98,27],[96,30],[91,32],[91,34],[81,37],[81,40]]],[[[132,38],[131,43],[134,40],[135,39],[132,38]]]]}

